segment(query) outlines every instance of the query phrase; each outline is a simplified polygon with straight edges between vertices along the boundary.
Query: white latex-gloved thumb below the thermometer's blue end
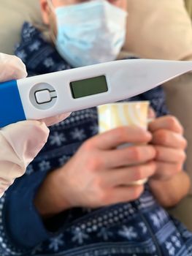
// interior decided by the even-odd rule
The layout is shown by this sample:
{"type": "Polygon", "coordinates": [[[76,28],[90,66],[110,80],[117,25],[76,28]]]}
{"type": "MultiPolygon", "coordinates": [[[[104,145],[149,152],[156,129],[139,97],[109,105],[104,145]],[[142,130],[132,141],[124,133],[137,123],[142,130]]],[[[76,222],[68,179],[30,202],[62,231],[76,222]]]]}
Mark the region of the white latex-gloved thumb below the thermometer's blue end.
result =
{"type": "Polygon", "coordinates": [[[20,121],[0,130],[0,196],[25,173],[48,135],[49,129],[40,121],[20,121]]]}

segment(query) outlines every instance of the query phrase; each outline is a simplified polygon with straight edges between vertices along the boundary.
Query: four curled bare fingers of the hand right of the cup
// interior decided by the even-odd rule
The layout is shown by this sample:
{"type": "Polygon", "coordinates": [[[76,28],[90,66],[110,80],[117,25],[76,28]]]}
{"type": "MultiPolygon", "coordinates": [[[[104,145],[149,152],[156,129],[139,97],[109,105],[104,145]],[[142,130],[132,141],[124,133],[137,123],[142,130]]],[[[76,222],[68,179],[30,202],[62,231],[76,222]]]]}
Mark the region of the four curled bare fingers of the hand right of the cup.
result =
{"type": "Polygon", "coordinates": [[[152,121],[149,130],[153,135],[151,143],[156,150],[157,169],[153,178],[169,179],[183,170],[187,146],[183,127],[177,118],[164,116],[152,121]]]}

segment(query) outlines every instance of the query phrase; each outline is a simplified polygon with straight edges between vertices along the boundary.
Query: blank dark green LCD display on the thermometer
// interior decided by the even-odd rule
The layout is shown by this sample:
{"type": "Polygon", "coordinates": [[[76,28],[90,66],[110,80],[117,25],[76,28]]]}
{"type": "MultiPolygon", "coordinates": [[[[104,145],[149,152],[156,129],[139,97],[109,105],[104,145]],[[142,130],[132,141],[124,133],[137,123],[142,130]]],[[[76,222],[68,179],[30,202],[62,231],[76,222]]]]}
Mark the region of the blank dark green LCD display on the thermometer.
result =
{"type": "Polygon", "coordinates": [[[74,99],[108,91],[107,80],[104,75],[71,82],[70,87],[74,99]]]}

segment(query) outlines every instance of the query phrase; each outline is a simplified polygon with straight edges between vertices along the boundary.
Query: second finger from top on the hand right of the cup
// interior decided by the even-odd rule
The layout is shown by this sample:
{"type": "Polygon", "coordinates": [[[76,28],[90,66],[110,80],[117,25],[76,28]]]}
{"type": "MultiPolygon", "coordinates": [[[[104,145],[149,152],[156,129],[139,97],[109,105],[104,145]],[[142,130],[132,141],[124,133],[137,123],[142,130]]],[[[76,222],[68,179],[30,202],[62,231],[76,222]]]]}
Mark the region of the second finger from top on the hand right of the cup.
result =
{"type": "Polygon", "coordinates": [[[182,135],[167,129],[158,129],[155,131],[153,133],[153,139],[151,140],[151,143],[153,145],[180,149],[185,149],[187,146],[187,140],[185,140],[182,135]]]}

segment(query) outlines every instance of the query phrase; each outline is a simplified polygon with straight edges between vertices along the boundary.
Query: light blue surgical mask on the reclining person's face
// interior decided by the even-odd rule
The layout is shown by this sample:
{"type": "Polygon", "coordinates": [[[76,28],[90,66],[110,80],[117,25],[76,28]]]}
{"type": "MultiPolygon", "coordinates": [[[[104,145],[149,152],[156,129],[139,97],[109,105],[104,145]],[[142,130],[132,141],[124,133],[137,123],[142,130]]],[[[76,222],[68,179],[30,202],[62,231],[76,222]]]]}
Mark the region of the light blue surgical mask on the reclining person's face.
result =
{"type": "Polygon", "coordinates": [[[106,0],[92,0],[55,9],[58,53],[82,67],[113,61],[126,37],[127,12],[106,0]]]}

